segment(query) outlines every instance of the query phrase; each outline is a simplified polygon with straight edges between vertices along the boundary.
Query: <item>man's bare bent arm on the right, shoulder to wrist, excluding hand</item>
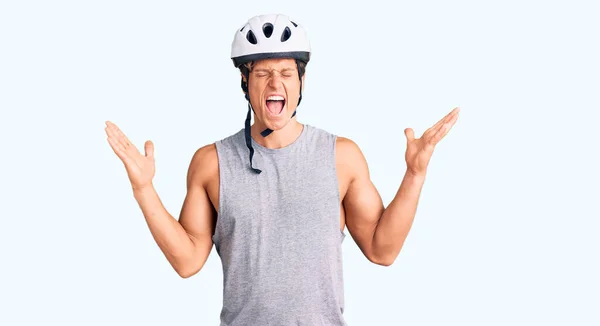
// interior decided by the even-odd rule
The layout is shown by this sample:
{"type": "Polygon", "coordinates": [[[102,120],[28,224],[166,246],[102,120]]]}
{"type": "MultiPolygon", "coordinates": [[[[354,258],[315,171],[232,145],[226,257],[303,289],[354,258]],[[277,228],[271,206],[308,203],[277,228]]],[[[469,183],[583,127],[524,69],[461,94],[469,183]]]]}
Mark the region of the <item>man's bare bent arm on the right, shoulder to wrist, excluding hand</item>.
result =
{"type": "Polygon", "coordinates": [[[373,185],[367,162],[358,146],[340,137],[338,155],[350,174],[343,204],[346,226],[363,254],[371,262],[391,265],[408,236],[416,214],[424,177],[406,174],[387,208],[373,185]]]}

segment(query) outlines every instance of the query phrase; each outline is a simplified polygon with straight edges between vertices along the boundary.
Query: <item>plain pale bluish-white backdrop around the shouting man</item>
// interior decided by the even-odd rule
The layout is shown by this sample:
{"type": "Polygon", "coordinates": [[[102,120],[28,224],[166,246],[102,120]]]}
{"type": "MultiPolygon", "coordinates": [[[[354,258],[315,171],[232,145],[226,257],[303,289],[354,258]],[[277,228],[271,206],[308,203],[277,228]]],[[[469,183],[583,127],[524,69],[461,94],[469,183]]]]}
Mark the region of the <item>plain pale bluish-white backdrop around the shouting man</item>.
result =
{"type": "Polygon", "coordinates": [[[396,262],[344,241],[349,325],[600,324],[596,2],[4,0],[1,325],[218,325],[219,257],[177,276],[104,122],[154,141],[177,216],[194,151],[243,128],[230,46],[263,13],[308,30],[298,119],[358,143],[386,205],[404,128],[461,107],[396,262]]]}

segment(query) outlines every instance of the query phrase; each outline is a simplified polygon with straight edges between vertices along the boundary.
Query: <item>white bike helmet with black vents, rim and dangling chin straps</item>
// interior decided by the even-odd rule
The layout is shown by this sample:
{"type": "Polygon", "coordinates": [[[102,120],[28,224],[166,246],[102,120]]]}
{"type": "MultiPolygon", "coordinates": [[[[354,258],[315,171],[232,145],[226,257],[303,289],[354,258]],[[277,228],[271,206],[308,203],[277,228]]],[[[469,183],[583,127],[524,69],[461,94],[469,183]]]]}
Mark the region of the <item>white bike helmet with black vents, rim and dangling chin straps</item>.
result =
{"type": "MultiPolygon", "coordinates": [[[[239,30],[236,31],[233,42],[231,44],[231,60],[236,68],[242,65],[261,59],[272,58],[291,58],[296,60],[298,67],[298,76],[300,77],[300,97],[298,105],[302,100],[302,75],[304,71],[300,68],[299,62],[305,64],[310,60],[311,48],[308,41],[306,31],[302,26],[298,25],[286,15],[270,14],[252,17],[239,30]]],[[[249,74],[246,71],[246,80],[249,74]]],[[[246,146],[250,150],[250,168],[261,173],[260,169],[252,166],[252,157],[254,149],[250,136],[250,119],[251,111],[254,109],[250,104],[250,96],[248,94],[248,85],[242,79],[242,89],[246,93],[248,101],[248,114],[246,115],[245,134],[246,146]]],[[[296,111],[290,117],[293,118],[296,111]]],[[[263,137],[270,135],[273,132],[271,129],[265,129],[261,132],[263,137]]]]}

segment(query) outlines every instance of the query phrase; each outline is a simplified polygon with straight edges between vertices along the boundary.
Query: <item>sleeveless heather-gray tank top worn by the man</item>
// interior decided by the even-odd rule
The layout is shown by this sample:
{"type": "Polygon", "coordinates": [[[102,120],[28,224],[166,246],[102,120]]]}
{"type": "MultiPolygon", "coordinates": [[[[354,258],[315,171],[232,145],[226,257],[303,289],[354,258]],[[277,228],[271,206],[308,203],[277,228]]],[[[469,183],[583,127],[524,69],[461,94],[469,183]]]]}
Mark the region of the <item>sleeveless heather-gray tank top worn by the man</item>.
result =
{"type": "Polygon", "coordinates": [[[221,326],[347,326],[336,136],[304,125],[289,146],[244,130],[216,143],[219,211],[213,242],[223,266],[221,326]]]}

